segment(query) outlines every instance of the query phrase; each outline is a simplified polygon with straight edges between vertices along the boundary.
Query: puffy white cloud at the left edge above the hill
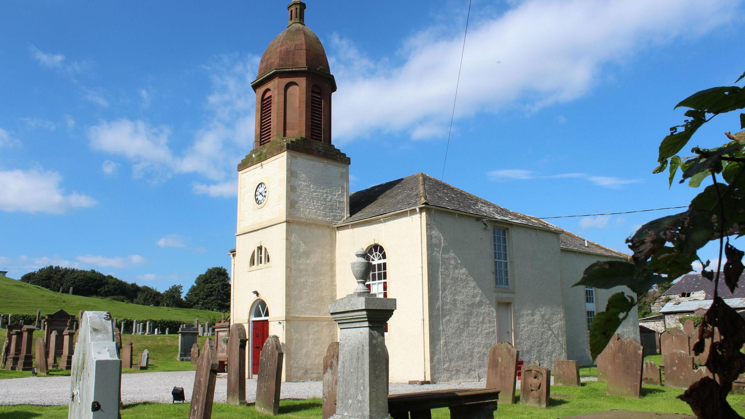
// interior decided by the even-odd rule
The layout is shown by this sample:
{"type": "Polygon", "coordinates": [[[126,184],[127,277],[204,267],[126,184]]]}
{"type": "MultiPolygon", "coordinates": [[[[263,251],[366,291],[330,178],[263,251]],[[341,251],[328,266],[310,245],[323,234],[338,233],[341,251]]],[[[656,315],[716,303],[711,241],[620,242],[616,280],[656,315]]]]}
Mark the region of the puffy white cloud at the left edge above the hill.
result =
{"type": "Polygon", "coordinates": [[[62,176],[42,168],[0,171],[0,210],[5,212],[47,212],[61,214],[70,209],[93,207],[88,195],[69,194],[60,188],[62,176]]]}

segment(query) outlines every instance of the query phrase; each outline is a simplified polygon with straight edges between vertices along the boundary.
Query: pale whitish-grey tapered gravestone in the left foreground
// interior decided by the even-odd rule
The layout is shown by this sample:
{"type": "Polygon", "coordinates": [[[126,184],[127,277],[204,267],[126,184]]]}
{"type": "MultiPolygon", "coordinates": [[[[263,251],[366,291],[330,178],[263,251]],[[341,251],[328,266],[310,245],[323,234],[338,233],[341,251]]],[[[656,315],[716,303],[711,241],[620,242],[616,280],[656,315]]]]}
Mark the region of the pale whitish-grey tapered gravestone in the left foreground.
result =
{"type": "Polygon", "coordinates": [[[78,330],[68,418],[118,419],[121,360],[111,315],[86,311],[78,330]]]}

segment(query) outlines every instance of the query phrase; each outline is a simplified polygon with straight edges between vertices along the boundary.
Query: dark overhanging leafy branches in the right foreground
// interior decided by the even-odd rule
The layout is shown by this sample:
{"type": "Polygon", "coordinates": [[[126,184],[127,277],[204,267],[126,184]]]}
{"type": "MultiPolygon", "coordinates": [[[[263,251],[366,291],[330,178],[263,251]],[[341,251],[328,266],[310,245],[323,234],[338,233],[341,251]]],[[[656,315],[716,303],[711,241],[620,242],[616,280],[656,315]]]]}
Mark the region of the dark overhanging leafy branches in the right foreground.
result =
{"type": "MultiPolygon", "coordinates": [[[[735,81],[738,84],[745,73],[735,81]]],[[[595,286],[609,289],[627,286],[641,295],[656,284],[669,284],[692,270],[691,264],[703,265],[701,274],[714,281],[714,301],[703,316],[694,338],[694,353],[704,349],[705,339],[711,339],[711,351],[706,368],[714,378],[704,377],[679,396],[691,406],[699,418],[741,418],[726,401],[732,382],[745,371],[745,320],[717,294],[720,279],[734,292],[744,270],[745,252],[730,245],[729,238],[745,234],[745,113],[740,113],[738,133],[725,133],[726,142],[714,148],[691,148],[691,155],[678,153],[697,130],[714,116],[745,108],[745,89],[721,86],[702,90],[685,98],[677,107],[686,107],[685,121],[672,127],[670,135],[659,146],[659,166],[654,173],[668,168],[672,187],[676,172],[682,171],[680,183],[699,188],[711,179],[692,201],[688,210],[650,221],[629,239],[633,251],[632,262],[606,261],[590,265],[576,286],[595,286]],[[708,242],[719,243],[717,266],[703,262],[697,251],[708,242]],[[724,253],[724,255],[722,254],[724,253]],[[723,256],[726,263],[722,266],[723,256]],[[712,269],[716,269],[715,271],[712,269]],[[714,329],[721,340],[713,341],[714,329]]],[[[697,137],[699,138],[699,137],[697,137]]],[[[716,143],[714,145],[717,145],[716,143]]],[[[608,343],[612,333],[637,302],[623,292],[613,294],[606,311],[598,313],[590,325],[590,352],[595,358],[608,343]]]]}

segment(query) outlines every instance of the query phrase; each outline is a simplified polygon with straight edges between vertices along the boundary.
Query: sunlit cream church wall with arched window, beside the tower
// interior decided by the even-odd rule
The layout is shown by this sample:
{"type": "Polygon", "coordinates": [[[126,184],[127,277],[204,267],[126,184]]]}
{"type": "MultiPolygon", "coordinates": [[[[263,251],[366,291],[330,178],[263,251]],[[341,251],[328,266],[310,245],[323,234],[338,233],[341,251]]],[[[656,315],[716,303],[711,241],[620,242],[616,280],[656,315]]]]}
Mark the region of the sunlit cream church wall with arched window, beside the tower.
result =
{"type": "MultiPolygon", "coordinates": [[[[422,327],[422,215],[416,210],[384,220],[367,221],[336,231],[336,297],[351,294],[356,283],[349,264],[355,251],[377,243],[385,249],[388,268],[388,297],[396,298],[396,311],[388,322],[386,347],[390,359],[390,381],[430,379],[428,350],[422,327]]],[[[328,307],[326,308],[328,312],[328,307]]]]}

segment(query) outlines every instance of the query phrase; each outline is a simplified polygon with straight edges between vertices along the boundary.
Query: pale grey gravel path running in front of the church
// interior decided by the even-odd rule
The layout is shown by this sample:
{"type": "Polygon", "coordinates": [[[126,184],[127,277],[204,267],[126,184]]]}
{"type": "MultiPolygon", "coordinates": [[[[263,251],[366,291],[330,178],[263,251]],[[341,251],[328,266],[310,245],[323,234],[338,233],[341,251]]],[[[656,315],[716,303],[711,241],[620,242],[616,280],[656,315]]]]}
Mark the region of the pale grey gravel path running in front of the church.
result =
{"type": "MultiPolygon", "coordinates": [[[[551,377],[553,381],[554,377],[551,377]]],[[[597,380],[583,377],[582,381],[597,380]]],[[[183,387],[186,400],[191,400],[194,371],[168,371],[158,373],[123,374],[121,376],[121,399],[124,403],[171,403],[171,390],[183,387]]],[[[518,384],[519,386],[519,384],[518,384]]],[[[483,388],[481,382],[457,382],[431,385],[391,384],[390,394],[414,391],[440,390],[446,388],[483,388]]],[[[35,404],[65,405],[70,388],[70,377],[30,377],[0,379],[0,405],[35,404]]],[[[322,396],[320,381],[283,382],[282,399],[309,399],[322,396]]],[[[218,375],[215,385],[215,402],[225,403],[227,379],[218,375]]],[[[246,380],[246,399],[256,400],[256,380],[246,380]]]]}

